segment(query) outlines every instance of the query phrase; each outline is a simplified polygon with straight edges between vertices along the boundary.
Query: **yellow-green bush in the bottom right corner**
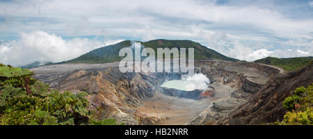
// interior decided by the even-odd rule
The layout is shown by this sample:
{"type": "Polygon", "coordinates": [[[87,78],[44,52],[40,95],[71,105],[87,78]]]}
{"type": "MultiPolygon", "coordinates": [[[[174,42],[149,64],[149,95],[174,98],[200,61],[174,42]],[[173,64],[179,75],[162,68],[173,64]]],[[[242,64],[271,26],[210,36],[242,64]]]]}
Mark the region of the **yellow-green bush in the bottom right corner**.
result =
{"type": "Polygon", "coordinates": [[[313,83],[307,88],[296,88],[294,95],[284,99],[283,106],[287,110],[279,125],[312,125],[313,121],[313,83]]]}

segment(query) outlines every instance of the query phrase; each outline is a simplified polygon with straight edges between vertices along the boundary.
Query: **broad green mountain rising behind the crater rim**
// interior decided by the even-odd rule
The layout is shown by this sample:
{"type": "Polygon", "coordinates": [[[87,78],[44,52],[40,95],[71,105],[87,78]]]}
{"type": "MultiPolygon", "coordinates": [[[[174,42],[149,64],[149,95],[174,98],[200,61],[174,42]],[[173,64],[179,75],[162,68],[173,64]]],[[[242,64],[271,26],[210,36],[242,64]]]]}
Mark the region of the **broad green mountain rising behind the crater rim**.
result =
{"type": "MultiPolygon", "coordinates": [[[[168,47],[170,49],[173,47],[195,48],[195,60],[216,58],[221,60],[236,61],[234,58],[223,56],[222,54],[219,54],[218,52],[191,40],[150,40],[148,42],[141,42],[141,44],[143,44],[144,47],[150,47],[154,49],[156,56],[158,47],[168,47]]],[[[78,58],[74,58],[63,63],[111,63],[114,61],[119,61],[123,58],[118,56],[120,49],[130,46],[131,41],[125,40],[123,42],[119,42],[118,44],[95,49],[88,52],[87,54],[79,56],[78,58]]],[[[188,54],[188,50],[186,53],[188,54]]]]}

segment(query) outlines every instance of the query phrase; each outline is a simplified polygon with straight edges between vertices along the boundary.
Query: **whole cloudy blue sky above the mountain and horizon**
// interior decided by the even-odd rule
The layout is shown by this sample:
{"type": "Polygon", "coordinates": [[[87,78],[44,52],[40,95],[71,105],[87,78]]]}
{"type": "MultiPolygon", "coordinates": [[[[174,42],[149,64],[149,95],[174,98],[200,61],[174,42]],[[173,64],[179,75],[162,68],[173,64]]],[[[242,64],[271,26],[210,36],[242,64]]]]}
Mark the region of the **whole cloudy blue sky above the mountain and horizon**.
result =
{"type": "Polygon", "coordinates": [[[0,1],[2,63],[59,62],[122,40],[161,38],[241,60],[312,56],[313,1],[0,1]]]}

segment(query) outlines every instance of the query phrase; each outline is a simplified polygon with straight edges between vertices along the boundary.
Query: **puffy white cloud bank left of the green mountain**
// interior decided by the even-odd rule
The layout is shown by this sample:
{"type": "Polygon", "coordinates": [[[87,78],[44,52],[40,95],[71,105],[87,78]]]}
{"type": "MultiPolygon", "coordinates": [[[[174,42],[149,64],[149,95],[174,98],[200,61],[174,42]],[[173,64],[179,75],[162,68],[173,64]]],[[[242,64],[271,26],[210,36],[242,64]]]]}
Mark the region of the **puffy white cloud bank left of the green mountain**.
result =
{"type": "Polygon", "coordinates": [[[20,33],[20,36],[19,40],[0,44],[1,63],[20,66],[35,61],[61,62],[76,58],[95,48],[121,41],[109,40],[100,42],[99,40],[87,38],[64,40],[55,34],[43,31],[20,33]]]}

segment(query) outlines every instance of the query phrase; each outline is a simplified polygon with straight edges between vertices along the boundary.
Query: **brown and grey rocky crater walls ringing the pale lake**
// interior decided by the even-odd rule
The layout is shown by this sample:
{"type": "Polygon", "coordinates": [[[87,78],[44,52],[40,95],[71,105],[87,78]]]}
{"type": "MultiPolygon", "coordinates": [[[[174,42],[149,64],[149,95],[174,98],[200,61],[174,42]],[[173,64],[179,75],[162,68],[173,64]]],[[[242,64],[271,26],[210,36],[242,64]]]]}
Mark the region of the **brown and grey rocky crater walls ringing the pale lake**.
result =
{"type": "MultiPolygon", "coordinates": [[[[181,73],[122,73],[117,65],[118,63],[64,64],[36,67],[31,70],[35,71],[34,78],[49,83],[52,88],[88,92],[90,108],[96,111],[100,108],[100,111],[96,112],[97,118],[111,117],[125,124],[157,124],[170,118],[168,115],[150,115],[147,111],[143,111],[145,108],[138,109],[144,106],[144,101],[146,103],[153,99],[156,92],[171,98],[177,97],[179,101],[186,103],[189,103],[188,99],[198,101],[202,99],[200,90],[184,92],[159,87],[166,80],[180,79],[181,73]]],[[[243,96],[247,92],[253,94],[260,90],[271,76],[278,74],[279,70],[257,63],[202,60],[195,63],[195,73],[200,72],[210,79],[209,87],[211,92],[214,92],[214,97],[209,97],[206,102],[207,108],[198,113],[194,120],[191,119],[189,124],[215,123],[225,118],[229,111],[237,108],[247,99],[240,97],[240,93],[237,93],[239,97],[234,97],[232,92],[239,90],[243,92],[243,96]]],[[[206,100],[201,103],[203,104],[204,101],[206,100]]],[[[166,106],[164,108],[166,109],[166,106]]],[[[175,122],[172,120],[168,123],[175,122]]]]}

